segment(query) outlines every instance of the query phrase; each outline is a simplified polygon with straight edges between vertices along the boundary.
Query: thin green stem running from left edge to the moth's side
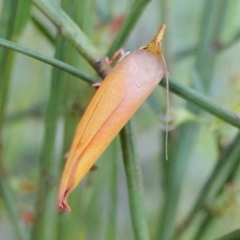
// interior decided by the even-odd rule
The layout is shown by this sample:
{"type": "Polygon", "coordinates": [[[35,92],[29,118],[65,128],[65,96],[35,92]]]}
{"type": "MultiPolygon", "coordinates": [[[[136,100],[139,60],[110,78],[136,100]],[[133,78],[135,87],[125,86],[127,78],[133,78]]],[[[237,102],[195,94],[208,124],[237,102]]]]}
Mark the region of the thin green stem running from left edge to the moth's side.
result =
{"type": "Polygon", "coordinates": [[[79,69],[77,69],[77,68],[75,68],[75,67],[73,67],[69,64],[66,64],[66,63],[64,63],[62,61],[59,61],[59,60],[57,60],[55,58],[52,58],[52,57],[44,56],[44,55],[42,55],[42,54],[40,54],[36,51],[33,51],[31,49],[19,46],[18,44],[13,43],[11,41],[0,38],[0,46],[3,46],[5,48],[11,49],[11,50],[14,50],[14,51],[22,53],[26,56],[35,58],[37,60],[40,60],[40,61],[45,62],[47,64],[50,64],[54,67],[62,69],[65,72],[68,72],[68,73],[72,74],[73,76],[76,76],[78,78],[81,78],[81,79],[87,81],[88,83],[94,83],[94,82],[97,81],[97,78],[95,78],[93,76],[90,76],[90,75],[82,72],[81,70],[79,70],[79,69]]]}

